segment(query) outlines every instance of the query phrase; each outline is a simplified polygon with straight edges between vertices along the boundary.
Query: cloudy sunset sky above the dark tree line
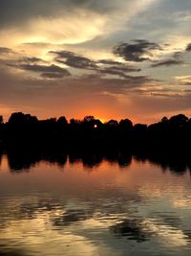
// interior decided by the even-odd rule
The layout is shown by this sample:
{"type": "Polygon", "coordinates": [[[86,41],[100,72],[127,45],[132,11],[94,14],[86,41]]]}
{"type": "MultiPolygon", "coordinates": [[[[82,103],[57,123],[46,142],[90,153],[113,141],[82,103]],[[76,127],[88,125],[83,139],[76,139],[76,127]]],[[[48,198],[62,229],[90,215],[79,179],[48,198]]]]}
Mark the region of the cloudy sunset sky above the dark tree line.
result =
{"type": "Polygon", "coordinates": [[[0,114],[191,116],[191,1],[1,0],[0,114]]]}

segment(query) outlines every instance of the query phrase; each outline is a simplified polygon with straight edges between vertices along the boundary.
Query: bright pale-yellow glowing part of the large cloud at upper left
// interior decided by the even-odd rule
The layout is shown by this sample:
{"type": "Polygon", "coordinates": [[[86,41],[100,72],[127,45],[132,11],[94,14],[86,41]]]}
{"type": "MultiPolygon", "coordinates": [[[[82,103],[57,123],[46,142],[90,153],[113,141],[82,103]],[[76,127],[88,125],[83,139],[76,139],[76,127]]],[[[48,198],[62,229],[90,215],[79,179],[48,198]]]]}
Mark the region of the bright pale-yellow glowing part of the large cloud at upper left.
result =
{"type": "MultiPolygon", "coordinates": [[[[70,13],[70,12],[69,12],[70,13]]],[[[103,35],[106,17],[83,10],[60,16],[38,15],[21,24],[16,23],[0,30],[2,46],[18,47],[26,43],[42,45],[77,44],[103,35]]]]}

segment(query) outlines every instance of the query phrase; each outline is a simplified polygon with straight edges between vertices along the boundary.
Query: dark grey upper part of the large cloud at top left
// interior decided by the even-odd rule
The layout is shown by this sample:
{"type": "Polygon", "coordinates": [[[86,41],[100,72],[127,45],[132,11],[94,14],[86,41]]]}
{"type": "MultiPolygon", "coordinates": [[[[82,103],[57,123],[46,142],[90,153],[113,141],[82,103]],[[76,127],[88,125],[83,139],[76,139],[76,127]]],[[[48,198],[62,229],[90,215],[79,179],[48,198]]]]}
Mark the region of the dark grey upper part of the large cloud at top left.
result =
{"type": "MultiPolygon", "coordinates": [[[[63,18],[75,10],[86,10],[96,13],[116,12],[121,9],[125,0],[1,0],[0,1],[0,27],[23,25],[31,19],[63,18]]],[[[132,5],[132,1],[129,1],[132,5]]]]}

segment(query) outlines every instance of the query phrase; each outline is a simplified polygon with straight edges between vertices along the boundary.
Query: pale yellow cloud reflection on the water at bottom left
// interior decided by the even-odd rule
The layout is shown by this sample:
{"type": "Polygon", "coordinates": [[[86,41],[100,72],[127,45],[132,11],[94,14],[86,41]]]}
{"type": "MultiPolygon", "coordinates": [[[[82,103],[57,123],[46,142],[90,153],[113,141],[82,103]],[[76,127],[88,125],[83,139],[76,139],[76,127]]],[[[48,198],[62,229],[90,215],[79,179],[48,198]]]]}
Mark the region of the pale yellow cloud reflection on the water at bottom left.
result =
{"type": "MultiPolygon", "coordinates": [[[[49,229],[50,223],[46,218],[36,218],[31,221],[18,221],[11,223],[7,229],[4,229],[4,241],[15,243],[23,237],[20,246],[26,251],[35,255],[36,251],[44,255],[96,255],[96,245],[88,241],[83,235],[75,235],[71,232],[57,232],[55,229],[49,229]],[[35,228],[34,228],[35,227],[35,228]],[[51,244],[50,244],[51,243],[51,244]]],[[[21,241],[20,241],[21,242],[21,241]]]]}

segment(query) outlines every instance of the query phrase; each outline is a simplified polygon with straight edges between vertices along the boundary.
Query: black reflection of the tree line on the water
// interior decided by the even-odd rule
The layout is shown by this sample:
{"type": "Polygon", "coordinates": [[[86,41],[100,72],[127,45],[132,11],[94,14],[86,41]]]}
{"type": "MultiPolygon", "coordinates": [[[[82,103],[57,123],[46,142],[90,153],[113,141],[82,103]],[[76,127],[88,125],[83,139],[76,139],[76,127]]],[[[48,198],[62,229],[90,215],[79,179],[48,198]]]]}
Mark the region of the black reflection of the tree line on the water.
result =
{"type": "MultiPolygon", "coordinates": [[[[128,168],[132,163],[132,158],[136,161],[150,163],[159,166],[163,172],[167,170],[177,175],[183,175],[187,171],[191,173],[191,157],[189,153],[176,152],[15,152],[7,153],[8,163],[13,173],[29,172],[35,164],[45,161],[49,164],[56,164],[64,168],[67,159],[71,165],[82,163],[84,170],[91,171],[99,166],[103,161],[110,164],[117,164],[120,169],[128,168]]],[[[0,154],[1,164],[2,154],[0,154]]]]}

